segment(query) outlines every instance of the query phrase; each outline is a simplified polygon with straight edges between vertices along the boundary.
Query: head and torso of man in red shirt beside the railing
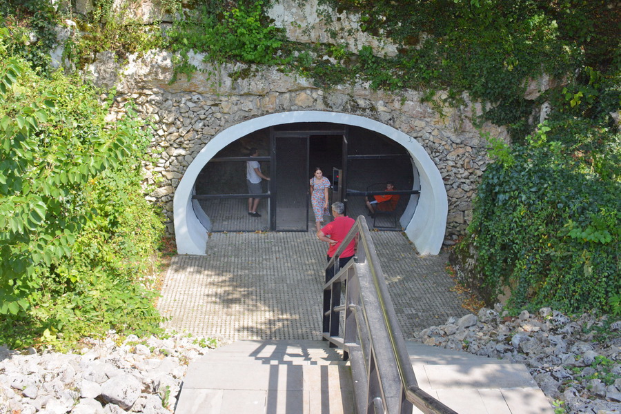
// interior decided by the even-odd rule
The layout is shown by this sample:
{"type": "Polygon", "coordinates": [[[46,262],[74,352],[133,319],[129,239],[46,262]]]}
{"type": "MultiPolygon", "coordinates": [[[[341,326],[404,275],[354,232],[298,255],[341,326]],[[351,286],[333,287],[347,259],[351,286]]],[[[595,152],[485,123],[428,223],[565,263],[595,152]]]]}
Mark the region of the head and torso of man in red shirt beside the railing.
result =
{"type": "MultiPolygon", "coordinates": [[[[349,230],[352,228],[354,223],[356,222],[351,217],[347,217],[344,215],[345,213],[345,205],[339,201],[332,204],[332,215],[334,216],[334,220],[330,223],[326,224],[326,226],[322,227],[321,230],[317,232],[317,239],[322,242],[326,242],[329,244],[328,247],[328,262],[334,256],[339,246],[341,246],[341,242],[349,233],[349,230]]],[[[355,255],[355,250],[357,247],[358,237],[357,235],[352,239],[352,241],[347,245],[345,250],[341,253],[339,257],[339,268],[342,268],[349,262],[349,260],[355,255]]],[[[334,275],[334,268],[331,267],[326,270],[326,282],[332,279],[334,275]]]]}

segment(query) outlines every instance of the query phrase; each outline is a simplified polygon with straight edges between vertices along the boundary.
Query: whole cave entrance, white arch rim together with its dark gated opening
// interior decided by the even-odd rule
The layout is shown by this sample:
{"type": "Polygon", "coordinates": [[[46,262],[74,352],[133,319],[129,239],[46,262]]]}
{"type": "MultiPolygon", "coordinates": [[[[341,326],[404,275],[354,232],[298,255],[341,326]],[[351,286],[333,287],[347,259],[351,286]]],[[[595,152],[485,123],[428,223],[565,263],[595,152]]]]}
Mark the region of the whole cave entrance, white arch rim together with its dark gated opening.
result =
{"type": "MultiPolygon", "coordinates": [[[[308,134],[311,130],[319,130],[323,135],[326,131],[344,131],[340,142],[346,141],[346,150],[341,149],[345,161],[339,179],[344,181],[343,201],[348,216],[357,217],[366,212],[364,199],[370,184],[395,181],[395,188],[401,196],[395,225],[404,228],[420,254],[437,255],[440,252],[448,217],[448,199],[440,170],[425,148],[406,133],[373,119],[342,112],[305,110],[278,112],[240,122],[219,132],[200,150],[175,188],[172,208],[179,254],[205,255],[209,232],[212,231],[275,230],[277,226],[284,226],[286,223],[279,224],[276,218],[275,191],[278,188],[273,191],[273,186],[277,185],[276,179],[299,179],[299,185],[304,183],[306,186],[313,168],[311,163],[321,158],[319,150],[313,150],[317,148],[315,142],[321,141],[319,137],[323,136],[308,134]],[[281,154],[273,145],[273,140],[278,139],[275,132],[299,132],[302,127],[303,135],[308,135],[308,162],[304,163],[303,158],[295,159],[306,164],[306,176],[299,177],[298,172],[295,177],[282,177],[283,174],[273,168],[282,162],[279,157],[286,157],[288,152],[281,154]],[[262,198],[259,204],[265,213],[262,217],[250,217],[247,210],[245,166],[250,157],[244,150],[252,147],[259,148],[259,157],[255,161],[261,163],[262,169],[266,168],[267,174],[275,177],[274,182],[264,183],[267,185],[263,193],[253,196],[262,198]],[[242,225],[242,222],[246,224],[242,225]]],[[[299,152],[299,146],[290,150],[299,152]]],[[[301,211],[308,211],[309,205],[301,207],[301,211]]],[[[313,215],[306,215],[314,221],[313,215]]]]}

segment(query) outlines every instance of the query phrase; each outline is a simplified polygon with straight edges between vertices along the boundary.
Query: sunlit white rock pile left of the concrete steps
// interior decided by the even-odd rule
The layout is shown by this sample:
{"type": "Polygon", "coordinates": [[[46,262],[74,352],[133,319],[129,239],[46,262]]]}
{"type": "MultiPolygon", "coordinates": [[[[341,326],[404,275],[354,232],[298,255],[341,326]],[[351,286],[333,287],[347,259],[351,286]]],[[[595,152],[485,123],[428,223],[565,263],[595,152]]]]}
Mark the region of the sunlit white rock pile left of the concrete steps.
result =
{"type": "Polygon", "coordinates": [[[170,414],[188,364],[206,345],[188,335],[120,342],[112,333],[76,353],[0,347],[0,414],[170,414]]]}

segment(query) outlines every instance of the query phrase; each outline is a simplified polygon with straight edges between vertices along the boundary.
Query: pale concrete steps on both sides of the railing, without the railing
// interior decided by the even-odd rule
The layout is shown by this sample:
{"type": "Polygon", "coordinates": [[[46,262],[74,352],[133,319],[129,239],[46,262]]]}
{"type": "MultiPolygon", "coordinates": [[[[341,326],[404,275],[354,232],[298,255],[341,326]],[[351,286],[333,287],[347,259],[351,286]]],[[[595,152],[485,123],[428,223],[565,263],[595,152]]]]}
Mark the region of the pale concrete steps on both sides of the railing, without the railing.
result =
{"type": "MultiPolygon", "coordinates": [[[[419,386],[457,413],[553,414],[522,364],[406,347],[419,386]]],[[[353,414],[353,393],[348,362],[326,342],[239,341],[190,365],[175,412],[353,414]]]]}

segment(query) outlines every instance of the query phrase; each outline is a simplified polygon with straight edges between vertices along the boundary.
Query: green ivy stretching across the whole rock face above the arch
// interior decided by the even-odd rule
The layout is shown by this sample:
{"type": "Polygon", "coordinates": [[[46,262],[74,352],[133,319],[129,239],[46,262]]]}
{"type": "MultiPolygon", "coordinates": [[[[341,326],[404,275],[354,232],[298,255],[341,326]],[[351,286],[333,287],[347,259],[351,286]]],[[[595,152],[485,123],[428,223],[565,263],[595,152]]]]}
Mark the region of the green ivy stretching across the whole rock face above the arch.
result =
{"type": "MultiPolygon", "coordinates": [[[[529,79],[543,73],[571,78],[582,66],[605,72],[621,62],[618,37],[613,35],[618,22],[604,0],[322,0],[318,12],[329,22],[333,16],[325,4],[338,12],[360,14],[361,29],[390,38],[399,47],[398,55],[380,57],[367,47],[354,53],[344,45],[287,41],[266,18],[268,1],[161,0],[160,6],[175,16],[172,28],[161,30],[129,21],[124,12],[112,9],[111,0],[98,0],[86,19],[70,16],[81,34],[68,39],[64,57],[82,67],[105,50],[125,59],[129,52],[164,47],[175,52],[172,81],[179,74],[191,77],[197,71],[192,52],[204,52],[206,59],[219,63],[276,65],[323,88],[362,80],[385,90],[444,89],[452,97],[467,91],[491,103],[481,121],[507,126],[514,139],[532,131],[529,117],[541,103],[523,98],[529,79]]],[[[46,7],[46,1],[28,6],[9,1],[0,10],[21,39],[28,39],[30,28],[46,28],[37,30],[46,32],[48,40],[35,41],[28,50],[52,46],[52,28],[61,14],[46,7]]],[[[337,38],[337,33],[329,34],[337,38]]],[[[26,53],[26,43],[14,41],[16,51],[26,53]]],[[[588,92],[566,93],[577,103],[588,92]]]]}

